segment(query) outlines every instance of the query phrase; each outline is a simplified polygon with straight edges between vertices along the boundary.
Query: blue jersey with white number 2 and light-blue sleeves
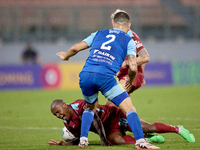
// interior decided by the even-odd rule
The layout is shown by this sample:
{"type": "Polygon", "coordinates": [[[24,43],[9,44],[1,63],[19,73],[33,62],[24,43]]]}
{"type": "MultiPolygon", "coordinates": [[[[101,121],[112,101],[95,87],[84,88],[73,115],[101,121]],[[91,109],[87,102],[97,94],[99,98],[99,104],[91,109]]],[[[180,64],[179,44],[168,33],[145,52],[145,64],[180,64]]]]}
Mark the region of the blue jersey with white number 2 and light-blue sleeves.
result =
{"type": "Polygon", "coordinates": [[[82,71],[115,76],[127,55],[136,56],[134,41],[120,29],[97,31],[83,41],[91,50],[82,71]]]}

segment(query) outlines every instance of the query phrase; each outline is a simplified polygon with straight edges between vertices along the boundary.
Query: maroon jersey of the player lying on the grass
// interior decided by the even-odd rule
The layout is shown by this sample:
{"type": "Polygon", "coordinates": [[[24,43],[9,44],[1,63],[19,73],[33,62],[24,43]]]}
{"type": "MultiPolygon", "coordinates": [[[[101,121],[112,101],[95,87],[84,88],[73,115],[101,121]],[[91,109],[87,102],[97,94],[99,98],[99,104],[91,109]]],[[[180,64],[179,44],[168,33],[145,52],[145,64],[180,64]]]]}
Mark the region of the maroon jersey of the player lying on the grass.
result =
{"type": "MultiPolygon", "coordinates": [[[[71,103],[70,107],[73,109],[74,114],[69,121],[64,120],[64,125],[75,137],[79,137],[81,129],[81,116],[86,108],[86,102],[79,99],[71,103]]],[[[99,118],[102,120],[107,136],[117,131],[121,131],[124,135],[125,131],[131,132],[126,120],[126,116],[117,107],[99,105],[96,111],[99,118]]],[[[90,131],[97,133],[93,124],[90,128],[90,131]]]]}

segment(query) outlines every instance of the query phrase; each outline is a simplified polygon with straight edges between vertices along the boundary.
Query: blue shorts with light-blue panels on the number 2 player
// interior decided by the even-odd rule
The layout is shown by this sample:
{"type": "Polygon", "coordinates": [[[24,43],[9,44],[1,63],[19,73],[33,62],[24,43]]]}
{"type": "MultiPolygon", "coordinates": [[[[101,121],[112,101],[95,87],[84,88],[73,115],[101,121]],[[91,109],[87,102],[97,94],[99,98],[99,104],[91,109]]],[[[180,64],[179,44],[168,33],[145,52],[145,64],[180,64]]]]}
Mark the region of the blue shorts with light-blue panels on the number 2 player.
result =
{"type": "Polygon", "coordinates": [[[106,76],[100,73],[84,72],[79,74],[80,88],[83,98],[89,104],[94,104],[98,100],[100,91],[106,99],[112,101],[115,105],[119,104],[129,97],[117,77],[106,76]]]}

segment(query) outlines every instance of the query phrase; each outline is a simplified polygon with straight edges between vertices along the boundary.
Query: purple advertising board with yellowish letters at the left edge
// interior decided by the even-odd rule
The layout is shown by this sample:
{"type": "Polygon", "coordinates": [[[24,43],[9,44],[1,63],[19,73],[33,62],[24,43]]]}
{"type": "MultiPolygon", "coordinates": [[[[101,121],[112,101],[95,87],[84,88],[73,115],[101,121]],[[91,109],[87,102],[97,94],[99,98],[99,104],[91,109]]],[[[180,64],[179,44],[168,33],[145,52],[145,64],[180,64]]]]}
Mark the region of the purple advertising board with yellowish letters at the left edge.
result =
{"type": "Polygon", "coordinates": [[[0,66],[0,90],[41,88],[40,65],[0,66]]]}

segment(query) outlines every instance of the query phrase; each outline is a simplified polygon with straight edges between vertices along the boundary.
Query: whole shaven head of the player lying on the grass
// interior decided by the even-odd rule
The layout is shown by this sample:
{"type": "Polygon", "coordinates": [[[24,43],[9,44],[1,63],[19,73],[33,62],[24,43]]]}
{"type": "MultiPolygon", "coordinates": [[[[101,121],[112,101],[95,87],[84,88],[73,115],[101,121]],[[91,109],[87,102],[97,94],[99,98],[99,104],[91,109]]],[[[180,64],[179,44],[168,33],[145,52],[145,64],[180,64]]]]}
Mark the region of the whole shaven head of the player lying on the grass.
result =
{"type": "Polygon", "coordinates": [[[69,120],[73,116],[72,108],[62,99],[55,99],[51,104],[51,112],[57,118],[69,120]]]}

